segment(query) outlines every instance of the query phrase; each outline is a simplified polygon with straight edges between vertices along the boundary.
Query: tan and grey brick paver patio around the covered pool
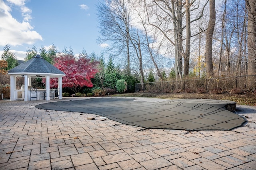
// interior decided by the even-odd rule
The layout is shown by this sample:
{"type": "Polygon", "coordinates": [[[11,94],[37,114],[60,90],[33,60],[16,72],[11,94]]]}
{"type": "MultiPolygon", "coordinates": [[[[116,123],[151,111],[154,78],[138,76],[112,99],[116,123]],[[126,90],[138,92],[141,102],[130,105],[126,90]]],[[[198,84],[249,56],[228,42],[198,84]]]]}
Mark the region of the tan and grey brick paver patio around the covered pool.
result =
{"type": "Polygon", "coordinates": [[[42,103],[0,101],[1,170],[256,169],[256,107],[237,106],[244,127],[188,133],[34,107],[42,103]]]}

